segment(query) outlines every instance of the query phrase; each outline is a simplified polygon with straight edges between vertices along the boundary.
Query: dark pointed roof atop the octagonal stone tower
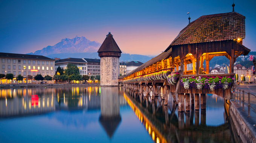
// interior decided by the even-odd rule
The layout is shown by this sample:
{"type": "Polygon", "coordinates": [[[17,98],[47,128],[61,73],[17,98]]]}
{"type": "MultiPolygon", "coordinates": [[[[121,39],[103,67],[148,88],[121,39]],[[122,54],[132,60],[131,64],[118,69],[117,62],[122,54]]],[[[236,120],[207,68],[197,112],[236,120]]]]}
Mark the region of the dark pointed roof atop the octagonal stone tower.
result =
{"type": "Polygon", "coordinates": [[[98,50],[99,52],[119,52],[122,53],[122,51],[119,49],[119,47],[116,44],[116,41],[113,38],[113,35],[109,32],[106,39],[102,43],[101,47],[98,50]]]}

